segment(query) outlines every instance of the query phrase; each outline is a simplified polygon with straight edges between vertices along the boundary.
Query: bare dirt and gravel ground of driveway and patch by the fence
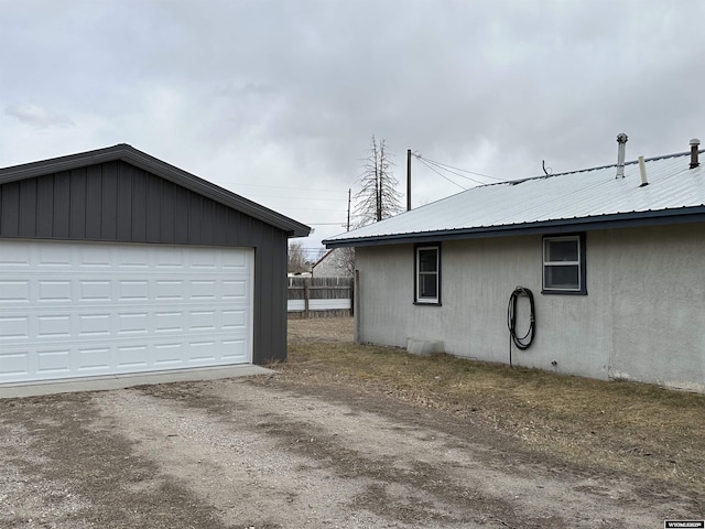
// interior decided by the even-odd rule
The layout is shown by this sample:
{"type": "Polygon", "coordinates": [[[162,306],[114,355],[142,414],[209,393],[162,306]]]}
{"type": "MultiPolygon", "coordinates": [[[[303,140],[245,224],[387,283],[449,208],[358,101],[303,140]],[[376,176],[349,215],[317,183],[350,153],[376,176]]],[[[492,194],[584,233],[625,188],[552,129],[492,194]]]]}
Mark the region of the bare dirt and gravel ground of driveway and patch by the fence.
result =
{"type": "MultiPolygon", "coordinates": [[[[316,320],[290,333],[351,337],[316,320]]],[[[693,493],[296,377],[0,400],[0,527],[660,528],[705,517],[693,493]]]]}

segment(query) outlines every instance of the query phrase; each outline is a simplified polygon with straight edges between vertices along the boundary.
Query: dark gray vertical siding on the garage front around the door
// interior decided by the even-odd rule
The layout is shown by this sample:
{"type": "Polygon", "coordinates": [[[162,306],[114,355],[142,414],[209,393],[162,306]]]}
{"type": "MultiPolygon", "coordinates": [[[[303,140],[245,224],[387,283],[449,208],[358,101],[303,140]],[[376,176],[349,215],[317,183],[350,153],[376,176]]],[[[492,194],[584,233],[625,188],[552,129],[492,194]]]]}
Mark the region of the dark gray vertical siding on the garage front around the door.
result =
{"type": "Polygon", "coordinates": [[[286,358],[286,233],[129,163],[0,185],[0,237],[254,248],[253,361],[286,358]]]}

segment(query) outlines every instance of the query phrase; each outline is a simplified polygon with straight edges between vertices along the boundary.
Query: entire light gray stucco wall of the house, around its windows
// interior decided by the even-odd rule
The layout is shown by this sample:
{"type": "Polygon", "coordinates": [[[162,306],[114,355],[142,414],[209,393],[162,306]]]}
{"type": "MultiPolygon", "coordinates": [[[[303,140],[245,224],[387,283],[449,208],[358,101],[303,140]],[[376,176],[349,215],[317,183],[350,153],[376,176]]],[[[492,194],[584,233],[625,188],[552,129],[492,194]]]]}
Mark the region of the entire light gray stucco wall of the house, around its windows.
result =
{"type": "MultiPolygon", "coordinates": [[[[444,241],[442,306],[413,304],[412,245],[358,248],[359,338],[442,339],[447,353],[508,363],[507,305],[522,285],[536,332],[514,364],[705,390],[704,236],[694,225],[587,233],[587,295],[541,294],[541,236],[444,241]]],[[[520,327],[527,314],[521,300],[520,327]]]]}

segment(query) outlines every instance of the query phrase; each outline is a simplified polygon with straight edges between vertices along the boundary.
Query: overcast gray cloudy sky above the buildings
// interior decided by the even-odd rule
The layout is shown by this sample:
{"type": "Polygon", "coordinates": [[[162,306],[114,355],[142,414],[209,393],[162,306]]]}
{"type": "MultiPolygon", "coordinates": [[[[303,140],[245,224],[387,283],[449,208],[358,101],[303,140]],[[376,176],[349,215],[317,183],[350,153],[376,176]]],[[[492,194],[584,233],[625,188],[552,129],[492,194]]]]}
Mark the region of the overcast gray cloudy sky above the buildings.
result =
{"type": "Polygon", "coordinates": [[[414,208],[614,164],[620,132],[628,161],[687,151],[704,21],[701,0],[0,0],[0,168],[129,143],[307,224],[315,252],[372,136],[404,207],[414,152],[414,208]]]}

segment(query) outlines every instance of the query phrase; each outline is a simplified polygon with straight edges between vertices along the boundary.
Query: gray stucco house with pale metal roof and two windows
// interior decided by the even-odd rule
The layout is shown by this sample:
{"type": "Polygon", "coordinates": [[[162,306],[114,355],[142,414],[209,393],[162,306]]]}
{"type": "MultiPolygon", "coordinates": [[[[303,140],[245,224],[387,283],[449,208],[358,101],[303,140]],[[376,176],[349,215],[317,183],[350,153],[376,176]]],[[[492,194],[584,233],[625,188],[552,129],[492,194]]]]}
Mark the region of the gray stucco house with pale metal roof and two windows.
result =
{"type": "Polygon", "coordinates": [[[647,160],[648,185],[637,162],[484,185],[325,240],[356,248],[359,342],[705,391],[697,145],[647,160]]]}

